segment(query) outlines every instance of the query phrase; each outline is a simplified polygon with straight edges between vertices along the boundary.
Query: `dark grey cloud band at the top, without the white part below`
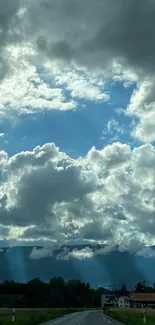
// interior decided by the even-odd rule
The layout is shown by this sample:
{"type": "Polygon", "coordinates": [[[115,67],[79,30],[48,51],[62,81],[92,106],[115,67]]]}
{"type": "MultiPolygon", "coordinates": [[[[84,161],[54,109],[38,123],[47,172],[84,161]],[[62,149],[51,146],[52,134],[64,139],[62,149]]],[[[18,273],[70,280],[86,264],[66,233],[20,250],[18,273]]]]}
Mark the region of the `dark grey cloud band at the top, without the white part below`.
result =
{"type": "Polygon", "coordinates": [[[154,73],[154,0],[2,0],[1,77],[5,47],[27,41],[51,59],[107,69],[113,59],[145,75],[154,73]],[[19,9],[24,8],[23,14],[19,9]]]}

